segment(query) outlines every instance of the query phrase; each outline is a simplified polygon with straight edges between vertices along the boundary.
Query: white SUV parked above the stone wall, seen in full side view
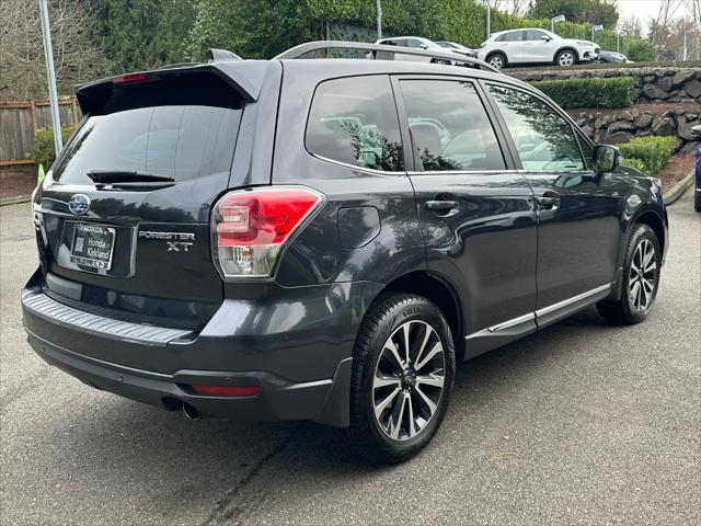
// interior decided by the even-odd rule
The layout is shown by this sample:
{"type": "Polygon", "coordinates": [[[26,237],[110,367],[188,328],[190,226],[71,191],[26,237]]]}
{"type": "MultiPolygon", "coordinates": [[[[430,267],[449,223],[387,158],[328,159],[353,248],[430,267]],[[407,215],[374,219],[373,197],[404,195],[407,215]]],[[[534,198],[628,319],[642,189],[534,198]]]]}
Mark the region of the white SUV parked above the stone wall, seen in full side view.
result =
{"type": "Polygon", "coordinates": [[[508,64],[572,66],[598,57],[599,47],[593,42],[563,38],[536,27],[494,33],[478,49],[478,58],[497,69],[508,64]]]}

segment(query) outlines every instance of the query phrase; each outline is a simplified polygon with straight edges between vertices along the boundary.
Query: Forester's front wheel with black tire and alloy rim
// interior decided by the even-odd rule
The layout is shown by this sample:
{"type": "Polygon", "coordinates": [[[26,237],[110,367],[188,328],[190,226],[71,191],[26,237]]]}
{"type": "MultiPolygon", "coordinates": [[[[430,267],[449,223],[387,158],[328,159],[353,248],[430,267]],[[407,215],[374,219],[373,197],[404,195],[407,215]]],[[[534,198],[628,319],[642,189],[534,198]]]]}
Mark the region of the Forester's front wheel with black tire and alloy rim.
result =
{"type": "Polygon", "coordinates": [[[604,300],[596,308],[608,323],[640,323],[653,308],[659,285],[659,241],[647,225],[633,227],[625,248],[621,299],[604,300]]]}

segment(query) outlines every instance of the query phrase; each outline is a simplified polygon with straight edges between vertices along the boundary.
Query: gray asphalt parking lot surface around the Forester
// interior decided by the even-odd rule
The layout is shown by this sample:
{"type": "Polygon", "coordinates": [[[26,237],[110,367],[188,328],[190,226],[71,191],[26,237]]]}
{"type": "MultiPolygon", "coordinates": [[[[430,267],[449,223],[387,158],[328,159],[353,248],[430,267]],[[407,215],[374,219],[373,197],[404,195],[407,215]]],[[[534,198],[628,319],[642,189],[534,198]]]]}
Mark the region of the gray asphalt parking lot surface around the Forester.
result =
{"type": "Polygon", "coordinates": [[[28,205],[0,208],[2,524],[698,524],[701,216],[670,208],[657,305],[594,309],[458,369],[416,459],[355,461],[312,423],[191,422],[43,363],[19,291],[28,205]]]}

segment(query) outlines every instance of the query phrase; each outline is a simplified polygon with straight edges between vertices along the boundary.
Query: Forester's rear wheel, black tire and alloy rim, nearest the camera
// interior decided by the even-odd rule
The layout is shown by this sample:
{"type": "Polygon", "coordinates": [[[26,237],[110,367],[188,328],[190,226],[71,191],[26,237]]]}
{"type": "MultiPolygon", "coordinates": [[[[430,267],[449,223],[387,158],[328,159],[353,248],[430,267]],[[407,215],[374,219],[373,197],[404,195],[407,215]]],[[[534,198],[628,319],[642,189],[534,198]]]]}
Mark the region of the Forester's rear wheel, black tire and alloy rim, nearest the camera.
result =
{"type": "Polygon", "coordinates": [[[365,317],[353,352],[350,425],[341,430],[371,464],[421,451],[443,422],[456,356],[446,318],[421,296],[380,298],[365,317]]]}

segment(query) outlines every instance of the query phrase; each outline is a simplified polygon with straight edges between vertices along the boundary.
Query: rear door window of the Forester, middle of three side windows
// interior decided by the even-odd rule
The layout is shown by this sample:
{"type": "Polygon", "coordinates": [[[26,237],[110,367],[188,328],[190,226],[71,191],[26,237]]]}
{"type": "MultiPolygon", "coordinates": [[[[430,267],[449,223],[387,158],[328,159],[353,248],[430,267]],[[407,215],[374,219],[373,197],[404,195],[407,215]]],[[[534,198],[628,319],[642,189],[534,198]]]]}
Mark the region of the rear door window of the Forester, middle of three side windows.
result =
{"type": "Polygon", "coordinates": [[[505,168],[492,124],[470,82],[404,80],[401,87],[424,170],[505,168]]]}

